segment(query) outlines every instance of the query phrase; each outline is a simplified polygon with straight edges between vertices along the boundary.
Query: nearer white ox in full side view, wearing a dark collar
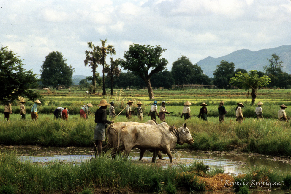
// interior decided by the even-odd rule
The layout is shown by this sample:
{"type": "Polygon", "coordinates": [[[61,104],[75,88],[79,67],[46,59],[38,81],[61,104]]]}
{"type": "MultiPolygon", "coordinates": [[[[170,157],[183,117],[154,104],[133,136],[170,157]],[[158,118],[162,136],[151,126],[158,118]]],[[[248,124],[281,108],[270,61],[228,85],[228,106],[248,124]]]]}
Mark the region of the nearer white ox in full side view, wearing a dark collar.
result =
{"type": "Polygon", "coordinates": [[[193,143],[193,138],[186,127],[186,123],[178,129],[175,129],[174,126],[169,127],[167,123],[123,126],[119,132],[119,137],[117,152],[125,149],[124,156],[127,158],[133,148],[154,150],[152,162],[155,162],[158,151],[166,153],[170,162],[172,162],[171,150],[175,148],[176,143],[186,142],[189,145],[193,143]]]}

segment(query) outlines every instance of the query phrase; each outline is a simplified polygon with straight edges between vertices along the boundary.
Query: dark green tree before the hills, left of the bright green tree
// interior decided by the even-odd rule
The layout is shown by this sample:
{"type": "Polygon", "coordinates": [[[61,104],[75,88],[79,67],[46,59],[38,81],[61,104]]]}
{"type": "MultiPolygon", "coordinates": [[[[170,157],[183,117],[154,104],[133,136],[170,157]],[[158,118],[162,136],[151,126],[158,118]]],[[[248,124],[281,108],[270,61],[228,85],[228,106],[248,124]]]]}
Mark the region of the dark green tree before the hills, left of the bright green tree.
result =
{"type": "Polygon", "coordinates": [[[222,60],[216,67],[216,70],[213,72],[214,85],[217,85],[218,88],[230,88],[229,80],[234,75],[234,63],[222,60]]]}

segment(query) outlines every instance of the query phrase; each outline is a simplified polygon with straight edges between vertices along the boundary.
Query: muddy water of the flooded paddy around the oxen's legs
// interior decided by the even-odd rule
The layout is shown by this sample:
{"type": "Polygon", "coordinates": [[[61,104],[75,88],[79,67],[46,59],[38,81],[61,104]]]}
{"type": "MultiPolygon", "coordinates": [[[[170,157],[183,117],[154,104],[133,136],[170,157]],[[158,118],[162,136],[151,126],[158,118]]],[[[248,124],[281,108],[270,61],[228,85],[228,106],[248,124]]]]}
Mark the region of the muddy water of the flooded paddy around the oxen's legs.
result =
{"type": "MultiPolygon", "coordinates": [[[[14,149],[21,161],[29,162],[73,162],[79,163],[88,161],[94,155],[91,148],[82,147],[38,147],[38,146],[6,146],[0,147],[0,150],[14,149]]],[[[109,156],[109,152],[107,155],[109,156]]],[[[211,151],[189,151],[189,150],[173,150],[173,164],[180,165],[190,164],[194,160],[203,161],[204,164],[212,168],[217,166],[224,168],[225,173],[238,175],[246,173],[254,167],[266,167],[283,174],[291,173],[291,157],[271,157],[260,154],[247,154],[238,152],[211,152],[211,151]]],[[[139,161],[139,150],[133,150],[130,154],[131,159],[135,163],[152,165],[152,153],[146,151],[142,161],[139,161]]],[[[169,158],[166,154],[162,154],[165,160],[156,160],[156,165],[170,165],[169,158]]]]}

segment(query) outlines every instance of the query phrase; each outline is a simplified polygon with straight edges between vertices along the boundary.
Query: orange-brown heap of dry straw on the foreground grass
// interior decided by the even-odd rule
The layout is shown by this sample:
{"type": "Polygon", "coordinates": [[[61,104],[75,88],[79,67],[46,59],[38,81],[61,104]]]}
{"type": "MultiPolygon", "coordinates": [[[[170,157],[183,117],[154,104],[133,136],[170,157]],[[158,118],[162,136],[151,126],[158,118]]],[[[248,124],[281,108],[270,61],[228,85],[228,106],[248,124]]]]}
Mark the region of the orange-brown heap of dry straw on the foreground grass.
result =
{"type": "Polygon", "coordinates": [[[227,187],[231,186],[225,184],[226,180],[234,181],[234,178],[228,174],[216,174],[212,177],[200,177],[198,176],[199,181],[205,183],[206,190],[224,190],[227,187]],[[224,187],[225,185],[225,187],[224,187]]]}

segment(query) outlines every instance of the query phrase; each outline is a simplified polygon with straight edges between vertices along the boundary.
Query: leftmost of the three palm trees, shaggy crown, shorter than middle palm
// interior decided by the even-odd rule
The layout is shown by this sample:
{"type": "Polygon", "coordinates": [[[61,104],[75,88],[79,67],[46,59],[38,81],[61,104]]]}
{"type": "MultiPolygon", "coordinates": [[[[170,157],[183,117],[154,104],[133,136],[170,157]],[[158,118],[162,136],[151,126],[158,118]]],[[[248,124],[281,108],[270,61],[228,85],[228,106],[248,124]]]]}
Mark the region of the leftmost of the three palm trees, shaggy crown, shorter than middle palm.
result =
{"type": "Polygon", "coordinates": [[[85,67],[87,67],[88,63],[89,63],[89,67],[91,67],[92,72],[93,72],[93,94],[96,93],[96,79],[95,79],[95,75],[96,75],[96,68],[97,68],[97,63],[100,63],[100,59],[101,59],[101,53],[99,52],[99,47],[95,46],[94,44],[92,44],[92,42],[87,42],[88,47],[91,49],[91,51],[85,51],[86,54],[86,59],[84,60],[84,64],[85,67]]]}

